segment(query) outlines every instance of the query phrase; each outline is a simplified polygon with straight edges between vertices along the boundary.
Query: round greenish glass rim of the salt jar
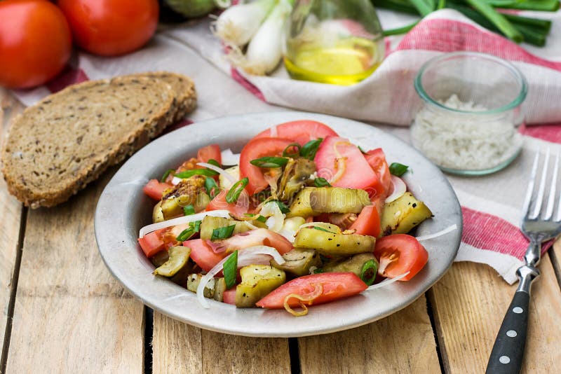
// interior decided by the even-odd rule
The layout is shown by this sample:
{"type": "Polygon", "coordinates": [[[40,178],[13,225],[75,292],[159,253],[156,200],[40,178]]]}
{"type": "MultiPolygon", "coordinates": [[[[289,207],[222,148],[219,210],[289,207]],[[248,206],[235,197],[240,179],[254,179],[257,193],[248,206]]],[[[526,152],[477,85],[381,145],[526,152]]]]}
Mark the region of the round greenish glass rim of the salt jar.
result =
{"type": "Polygon", "coordinates": [[[424,99],[425,102],[438,106],[441,109],[445,109],[447,111],[451,111],[454,113],[469,113],[469,114],[482,114],[482,115],[502,113],[504,111],[515,109],[517,106],[520,106],[522,102],[524,102],[528,92],[528,84],[525,76],[522,75],[520,70],[517,67],[515,67],[511,62],[507,60],[503,60],[502,58],[496,57],[494,55],[489,55],[487,53],[468,52],[468,51],[445,53],[444,55],[431,58],[431,60],[425,62],[423,66],[421,66],[421,69],[419,69],[419,72],[417,73],[417,76],[415,76],[414,79],[414,87],[419,97],[421,97],[421,99],[424,99]],[[517,97],[515,97],[513,101],[509,102],[506,105],[499,106],[499,108],[495,108],[495,109],[489,109],[487,111],[464,111],[461,109],[454,109],[454,108],[450,108],[450,106],[441,104],[440,102],[433,99],[431,95],[428,95],[428,92],[426,92],[426,90],[423,87],[422,77],[425,71],[431,69],[433,65],[438,64],[439,62],[442,62],[444,60],[454,60],[459,57],[472,57],[472,58],[475,57],[478,59],[490,60],[508,69],[508,71],[510,71],[513,78],[515,78],[515,80],[518,81],[518,83],[520,84],[520,92],[518,92],[517,97]]]}

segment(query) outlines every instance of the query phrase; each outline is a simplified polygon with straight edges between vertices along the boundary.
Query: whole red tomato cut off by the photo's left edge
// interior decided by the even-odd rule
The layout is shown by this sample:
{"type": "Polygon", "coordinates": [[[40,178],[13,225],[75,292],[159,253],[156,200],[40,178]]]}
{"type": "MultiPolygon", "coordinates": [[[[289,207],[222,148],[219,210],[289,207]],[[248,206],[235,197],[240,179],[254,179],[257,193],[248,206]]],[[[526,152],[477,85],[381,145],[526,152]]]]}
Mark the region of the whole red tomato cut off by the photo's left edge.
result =
{"type": "Polygon", "coordinates": [[[0,85],[45,83],[67,63],[72,37],[65,16],[46,0],[0,1],[0,85]]]}

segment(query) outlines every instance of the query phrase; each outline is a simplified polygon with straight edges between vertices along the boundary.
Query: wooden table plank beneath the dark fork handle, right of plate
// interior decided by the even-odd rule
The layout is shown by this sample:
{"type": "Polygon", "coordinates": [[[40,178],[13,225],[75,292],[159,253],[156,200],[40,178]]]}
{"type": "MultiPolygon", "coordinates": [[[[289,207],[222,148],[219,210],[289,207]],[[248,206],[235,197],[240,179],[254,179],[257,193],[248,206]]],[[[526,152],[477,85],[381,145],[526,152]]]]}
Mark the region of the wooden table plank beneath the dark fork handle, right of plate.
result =
{"type": "MultiPolygon", "coordinates": [[[[561,373],[561,291],[549,256],[532,286],[522,373],[561,373]]],[[[487,265],[454,263],[429,295],[447,373],[484,373],[516,285],[487,265]]]]}

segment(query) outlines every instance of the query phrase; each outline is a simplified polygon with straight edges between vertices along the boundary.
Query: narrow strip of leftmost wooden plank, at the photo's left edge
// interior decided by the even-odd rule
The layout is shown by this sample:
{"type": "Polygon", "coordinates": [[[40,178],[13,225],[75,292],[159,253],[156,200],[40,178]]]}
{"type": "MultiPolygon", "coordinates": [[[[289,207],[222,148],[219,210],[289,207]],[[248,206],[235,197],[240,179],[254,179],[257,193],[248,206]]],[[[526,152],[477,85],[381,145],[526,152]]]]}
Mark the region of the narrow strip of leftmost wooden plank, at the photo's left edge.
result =
{"type": "MultiPolygon", "coordinates": [[[[4,134],[11,119],[21,109],[22,105],[12,99],[6,90],[0,88],[0,143],[4,139],[4,134]]],[[[0,318],[0,342],[4,342],[6,331],[15,258],[20,236],[21,214],[22,205],[8,193],[4,178],[0,178],[0,217],[2,220],[0,225],[0,303],[3,311],[0,318]]]]}

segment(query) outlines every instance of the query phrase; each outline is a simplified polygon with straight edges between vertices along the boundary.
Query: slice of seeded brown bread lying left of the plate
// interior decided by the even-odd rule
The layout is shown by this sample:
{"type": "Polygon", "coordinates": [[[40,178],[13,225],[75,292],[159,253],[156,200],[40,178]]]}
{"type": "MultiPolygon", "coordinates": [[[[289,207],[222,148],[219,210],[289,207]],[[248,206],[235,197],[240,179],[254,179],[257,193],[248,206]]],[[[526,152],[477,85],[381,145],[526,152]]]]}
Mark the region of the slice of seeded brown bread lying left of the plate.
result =
{"type": "Polygon", "coordinates": [[[182,94],[167,81],[140,75],[89,81],[25,109],[1,152],[8,190],[32,208],[70,198],[156,137],[178,111],[194,107],[177,100],[182,94]]]}

